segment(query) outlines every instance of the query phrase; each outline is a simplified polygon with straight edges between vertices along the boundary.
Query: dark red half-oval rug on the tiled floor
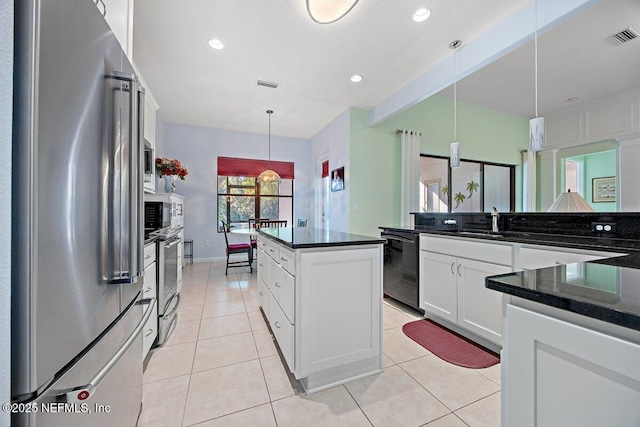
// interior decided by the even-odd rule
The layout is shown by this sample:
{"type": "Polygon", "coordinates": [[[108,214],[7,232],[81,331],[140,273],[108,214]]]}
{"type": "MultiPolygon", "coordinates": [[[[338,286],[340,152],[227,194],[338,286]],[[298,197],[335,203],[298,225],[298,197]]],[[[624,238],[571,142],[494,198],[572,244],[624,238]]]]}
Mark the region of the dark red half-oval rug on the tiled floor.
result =
{"type": "Polygon", "coordinates": [[[500,362],[500,357],[494,352],[429,319],[406,323],[402,331],[440,359],[454,365],[480,369],[500,362]]]}

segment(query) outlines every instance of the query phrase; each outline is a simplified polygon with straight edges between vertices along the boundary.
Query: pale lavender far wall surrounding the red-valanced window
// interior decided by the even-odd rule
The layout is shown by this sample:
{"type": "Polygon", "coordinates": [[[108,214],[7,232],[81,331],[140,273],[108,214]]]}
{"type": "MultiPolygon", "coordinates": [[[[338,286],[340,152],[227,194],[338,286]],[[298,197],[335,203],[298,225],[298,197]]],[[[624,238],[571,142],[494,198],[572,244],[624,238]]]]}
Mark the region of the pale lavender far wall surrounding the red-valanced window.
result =
{"type": "MultiPolygon", "coordinates": [[[[194,260],[224,257],[224,235],[216,231],[218,156],[267,159],[267,135],[165,123],[163,139],[158,156],[178,159],[189,171],[185,181],[176,182],[176,193],[186,198],[185,238],[193,239],[194,260]]],[[[294,218],[310,218],[309,141],[271,135],[271,159],[294,162],[294,218]]],[[[159,181],[156,188],[161,185],[159,181]]]]}

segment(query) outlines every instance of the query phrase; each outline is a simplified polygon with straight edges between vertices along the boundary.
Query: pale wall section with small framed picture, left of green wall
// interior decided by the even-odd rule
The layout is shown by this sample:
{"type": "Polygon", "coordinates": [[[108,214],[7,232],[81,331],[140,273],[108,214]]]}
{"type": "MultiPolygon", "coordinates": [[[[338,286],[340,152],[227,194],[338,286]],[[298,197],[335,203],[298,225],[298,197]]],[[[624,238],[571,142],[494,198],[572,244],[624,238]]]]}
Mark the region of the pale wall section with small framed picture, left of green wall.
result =
{"type": "MultiPolygon", "coordinates": [[[[311,138],[311,155],[309,157],[309,183],[310,195],[320,192],[319,159],[325,155],[329,157],[329,174],[331,171],[344,166],[344,190],[332,192],[329,195],[329,228],[336,231],[349,231],[349,195],[350,195],[350,168],[349,168],[349,135],[350,120],[349,110],[336,117],[324,129],[311,138]]],[[[313,209],[310,211],[309,226],[320,227],[316,223],[315,201],[319,196],[311,197],[313,209]]]]}

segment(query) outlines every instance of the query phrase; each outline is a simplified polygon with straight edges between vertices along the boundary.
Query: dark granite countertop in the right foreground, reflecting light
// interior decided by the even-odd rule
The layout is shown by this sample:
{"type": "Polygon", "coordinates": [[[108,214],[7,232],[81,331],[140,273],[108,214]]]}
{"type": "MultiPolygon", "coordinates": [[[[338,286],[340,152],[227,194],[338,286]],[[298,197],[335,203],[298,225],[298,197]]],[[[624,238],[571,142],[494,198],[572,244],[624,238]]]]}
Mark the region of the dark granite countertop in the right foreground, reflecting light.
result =
{"type": "Polygon", "coordinates": [[[640,254],[490,276],[485,284],[640,331],[640,254]]]}

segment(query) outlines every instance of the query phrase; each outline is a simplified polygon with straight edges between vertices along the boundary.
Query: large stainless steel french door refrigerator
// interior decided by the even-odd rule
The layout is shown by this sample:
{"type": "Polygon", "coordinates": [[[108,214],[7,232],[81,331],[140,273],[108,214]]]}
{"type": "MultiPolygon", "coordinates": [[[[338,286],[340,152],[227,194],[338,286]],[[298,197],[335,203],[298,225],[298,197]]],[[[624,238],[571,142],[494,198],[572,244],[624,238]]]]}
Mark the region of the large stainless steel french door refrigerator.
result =
{"type": "Polygon", "coordinates": [[[144,92],[92,0],[15,3],[12,425],[134,426],[144,92]]]}

